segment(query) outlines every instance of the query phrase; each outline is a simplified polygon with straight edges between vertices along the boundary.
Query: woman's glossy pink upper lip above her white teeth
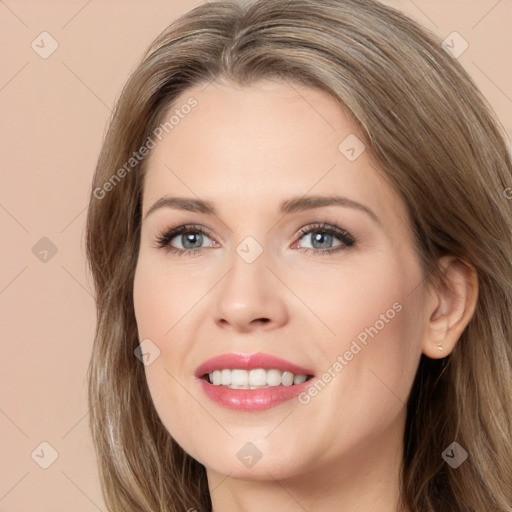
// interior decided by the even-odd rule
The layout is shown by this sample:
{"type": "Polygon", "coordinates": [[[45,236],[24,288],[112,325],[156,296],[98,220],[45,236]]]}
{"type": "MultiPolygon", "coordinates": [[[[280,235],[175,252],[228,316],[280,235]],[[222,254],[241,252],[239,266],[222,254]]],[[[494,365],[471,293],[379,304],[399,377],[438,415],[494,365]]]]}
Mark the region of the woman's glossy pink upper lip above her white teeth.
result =
{"type": "Polygon", "coordinates": [[[262,352],[252,354],[221,354],[200,364],[194,375],[196,377],[203,377],[203,375],[213,372],[214,370],[222,370],[225,368],[241,370],[252,370],[254,368],[270,370],[275,368],[277,370],[291,372],[294,375],[313,375],[313,371],[308,368],[262,352]]]}

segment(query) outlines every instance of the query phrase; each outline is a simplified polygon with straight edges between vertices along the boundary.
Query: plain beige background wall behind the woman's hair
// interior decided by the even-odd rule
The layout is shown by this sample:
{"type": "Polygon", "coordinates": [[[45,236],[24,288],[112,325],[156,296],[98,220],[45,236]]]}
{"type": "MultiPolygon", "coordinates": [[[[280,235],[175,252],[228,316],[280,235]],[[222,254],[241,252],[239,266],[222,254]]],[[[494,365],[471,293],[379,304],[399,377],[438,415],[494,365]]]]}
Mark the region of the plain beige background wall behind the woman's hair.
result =
{"type": "MultiPolygon", "coordinates": [[[[90,181],[114,100],[143,50],[201,3],[0,0],[0,512],[106,510],[87,427],[90,181]],[[44,31],[58,43],[46,59],[44,31]],[[42,442],[58,455],[47,469],[52,451],[42,442]]],[[[469,47],[459,60],[510,136],[512,1],[387,3],[443,39],[462,35],[469,47]]]]}

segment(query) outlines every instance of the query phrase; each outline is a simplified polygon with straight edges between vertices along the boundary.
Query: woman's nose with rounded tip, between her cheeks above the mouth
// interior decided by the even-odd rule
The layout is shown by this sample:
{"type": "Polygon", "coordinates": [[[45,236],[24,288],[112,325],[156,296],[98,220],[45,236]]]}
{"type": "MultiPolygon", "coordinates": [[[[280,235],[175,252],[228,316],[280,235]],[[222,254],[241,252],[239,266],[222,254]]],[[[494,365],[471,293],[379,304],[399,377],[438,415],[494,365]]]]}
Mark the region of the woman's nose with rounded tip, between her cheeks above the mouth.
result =
{"type": "Polygon", "coordinates": [[[273,330],[288,321],[285,285],[268,266],[265,251],[248,263],[237,253],[219,283],[214,308],[216,324],[239,333],[273,330]]]}

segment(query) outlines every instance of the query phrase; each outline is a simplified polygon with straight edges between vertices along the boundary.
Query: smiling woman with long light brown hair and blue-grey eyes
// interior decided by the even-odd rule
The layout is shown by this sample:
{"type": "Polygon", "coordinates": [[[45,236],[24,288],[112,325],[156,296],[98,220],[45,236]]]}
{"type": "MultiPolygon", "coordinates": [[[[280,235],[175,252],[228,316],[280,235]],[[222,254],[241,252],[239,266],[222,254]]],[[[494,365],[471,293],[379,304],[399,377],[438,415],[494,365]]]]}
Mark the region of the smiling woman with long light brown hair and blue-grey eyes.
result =
{"type": "Polygon", "coordinates": [[[88,212],[109,510],[510,511],[511,184],[466,72],[389,7],[168,27],[88,212]]]}

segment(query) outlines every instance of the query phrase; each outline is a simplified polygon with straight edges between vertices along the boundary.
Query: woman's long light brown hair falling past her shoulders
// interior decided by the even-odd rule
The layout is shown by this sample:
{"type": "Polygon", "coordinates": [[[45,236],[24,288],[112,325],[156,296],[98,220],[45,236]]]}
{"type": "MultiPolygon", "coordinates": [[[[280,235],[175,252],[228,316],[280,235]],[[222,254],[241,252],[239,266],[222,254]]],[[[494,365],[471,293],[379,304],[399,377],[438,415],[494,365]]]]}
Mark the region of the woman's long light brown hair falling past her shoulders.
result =
{"type": "Polygon", "coordinates": [[[209,2],[165,29],[124,87],[87,218],[97,299],[90,429],[109,510],[211,510],[205,468],[163,426],[134,356],[145,159],[130,158],[154,140],[178,95],[216,78],[240,85],[277,78],[338,99],[405,201],[428,279],[439,277],[444,254],[477,270],[476,310],[454,351],[420,361],[407,404],[403,505],[510,512],[510,154],[458,61],[415,22],[374,0],[209,2]],[[456,469],[442,457],[454,441],[469,455],[456,469]]]}

